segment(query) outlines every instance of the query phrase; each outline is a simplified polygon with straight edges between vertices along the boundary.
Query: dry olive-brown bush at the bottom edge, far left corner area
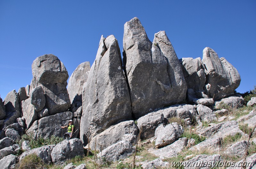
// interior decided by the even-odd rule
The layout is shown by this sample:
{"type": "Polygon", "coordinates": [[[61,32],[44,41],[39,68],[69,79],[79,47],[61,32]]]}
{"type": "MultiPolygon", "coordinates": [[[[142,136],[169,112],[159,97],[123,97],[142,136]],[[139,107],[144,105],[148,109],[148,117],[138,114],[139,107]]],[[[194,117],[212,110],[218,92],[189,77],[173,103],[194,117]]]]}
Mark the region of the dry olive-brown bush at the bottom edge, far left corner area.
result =
{"type": "Polygon", "coordinates": [[[37,157],[35,153],[29,154],[26,157],[24,157],[19,165],[18,169],[43,169],[44,167],[44,162],[40,157],[37,157]]]}

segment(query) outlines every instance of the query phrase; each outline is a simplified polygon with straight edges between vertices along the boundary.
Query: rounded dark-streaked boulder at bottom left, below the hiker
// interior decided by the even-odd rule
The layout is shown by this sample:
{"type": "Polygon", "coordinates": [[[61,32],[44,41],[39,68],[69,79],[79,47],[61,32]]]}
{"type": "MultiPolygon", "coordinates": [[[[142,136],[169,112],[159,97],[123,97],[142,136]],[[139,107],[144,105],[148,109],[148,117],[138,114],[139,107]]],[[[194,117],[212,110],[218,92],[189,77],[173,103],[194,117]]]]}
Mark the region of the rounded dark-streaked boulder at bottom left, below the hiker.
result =
{"type": "Polygon", "coordinates": [[[56,144],[51,152],[54,164],[63,164],[67,159],[76,156],[84,156],[83,144],[78,138],[64,140],[61,143],[56,144]]]}

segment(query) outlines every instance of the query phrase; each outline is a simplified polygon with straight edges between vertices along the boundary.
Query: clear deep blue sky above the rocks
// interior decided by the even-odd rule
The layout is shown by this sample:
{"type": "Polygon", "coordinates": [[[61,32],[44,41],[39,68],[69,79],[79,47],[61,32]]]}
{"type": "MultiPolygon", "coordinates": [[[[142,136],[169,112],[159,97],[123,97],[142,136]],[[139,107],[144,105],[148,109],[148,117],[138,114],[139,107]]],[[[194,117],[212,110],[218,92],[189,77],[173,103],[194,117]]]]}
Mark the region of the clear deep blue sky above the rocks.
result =
{"type": "Polygon", "coordinates": [[[210,47],[241,75],[237,92],[256,85],[256,1],[0,0],[0,95],[30,84],[31,64],[54,54],[69,75],[95,60],[101,35],[122,51],[123,26],[138,17],[153,41],[165,30],[178,58],[201,57],[210,47]]]}

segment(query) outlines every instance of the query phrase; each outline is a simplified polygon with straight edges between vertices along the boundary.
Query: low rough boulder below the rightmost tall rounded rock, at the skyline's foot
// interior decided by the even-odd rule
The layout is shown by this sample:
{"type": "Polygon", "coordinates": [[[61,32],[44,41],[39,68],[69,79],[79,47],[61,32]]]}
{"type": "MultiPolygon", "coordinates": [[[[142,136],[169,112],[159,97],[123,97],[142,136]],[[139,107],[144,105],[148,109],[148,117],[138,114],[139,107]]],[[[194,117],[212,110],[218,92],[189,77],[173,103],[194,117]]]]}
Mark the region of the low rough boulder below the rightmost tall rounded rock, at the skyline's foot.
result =
{"type": "Polygon", "coordinates": [[[232,108],[240,108],[240,107],[243,107],[244,98],[235,97],[235,96],[224,98],[224,99],[216,101],[215,102],[215,107],[219,108],[221,102],[223,102],[224,104],[227,104],[228,106],[230,106],[232,108]]]}

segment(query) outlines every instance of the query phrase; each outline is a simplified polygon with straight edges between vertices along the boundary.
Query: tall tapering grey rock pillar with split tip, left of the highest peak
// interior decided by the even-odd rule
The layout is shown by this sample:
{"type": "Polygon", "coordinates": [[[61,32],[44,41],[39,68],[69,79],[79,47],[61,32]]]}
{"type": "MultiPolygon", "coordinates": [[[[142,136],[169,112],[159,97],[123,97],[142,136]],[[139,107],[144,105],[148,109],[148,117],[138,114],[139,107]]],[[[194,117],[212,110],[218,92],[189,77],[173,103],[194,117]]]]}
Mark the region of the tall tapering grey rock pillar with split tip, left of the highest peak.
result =
{"type": "Polygon", "coordinates": [[[85,143],[89,133],[90,137],[96,136],[111,125],[132,118],[120,49],[113,35],[101,37],[82,98],[80,138],[85,143]]]}

